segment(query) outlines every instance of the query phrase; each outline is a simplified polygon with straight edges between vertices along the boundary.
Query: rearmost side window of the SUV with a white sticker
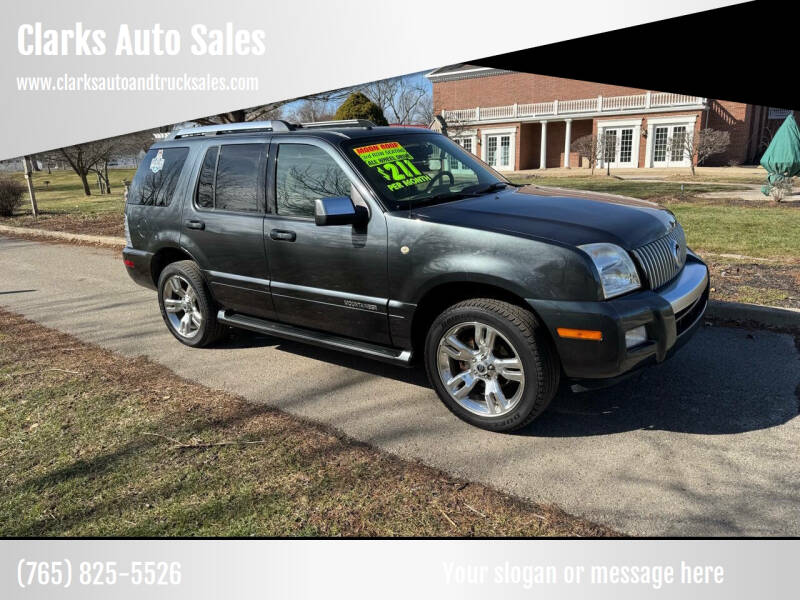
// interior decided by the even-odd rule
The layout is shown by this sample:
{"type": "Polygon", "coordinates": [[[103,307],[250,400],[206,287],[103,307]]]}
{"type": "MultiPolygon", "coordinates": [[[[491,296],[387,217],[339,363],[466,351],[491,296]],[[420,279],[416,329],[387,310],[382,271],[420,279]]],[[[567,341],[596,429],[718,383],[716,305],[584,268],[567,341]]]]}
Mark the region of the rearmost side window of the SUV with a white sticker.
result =
{"type": "Polygon", "coordinates": [[[128,204],[169,206],[188,154],[188,148],[151,148],[131,182],[128,204]]]}

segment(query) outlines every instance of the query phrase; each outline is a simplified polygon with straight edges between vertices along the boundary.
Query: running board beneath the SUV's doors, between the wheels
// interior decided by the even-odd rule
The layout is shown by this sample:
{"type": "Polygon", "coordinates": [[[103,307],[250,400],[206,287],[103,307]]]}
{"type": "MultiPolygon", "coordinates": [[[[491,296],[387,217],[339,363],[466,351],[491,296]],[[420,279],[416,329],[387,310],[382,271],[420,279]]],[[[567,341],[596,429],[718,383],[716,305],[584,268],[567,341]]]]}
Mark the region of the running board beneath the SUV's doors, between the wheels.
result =
{"type": "Polygon", "coordinates": [[[313,329],[304,329],[302,327],[295,327],[294,325],[276,323],[275,321],[267,321],[266,319],[248,317],[236,313],[229,314],[224,310],[220,310],[219,313],[217,313],[217,321],[232,327],[241,327],[242,329],[249,329],[250,331],[256,331],[258,333],[265,333],[289,340],[314,344],[315,346],[322,346],[323,348],[341,350],[342,352],[357,354],[365,358],[373,358],[401,367],[408,367],[411,364],[410,350],[387,348],[386,346],[351,340],[350,338],[339,337],[322,331],[314,331],[313,329]]]}

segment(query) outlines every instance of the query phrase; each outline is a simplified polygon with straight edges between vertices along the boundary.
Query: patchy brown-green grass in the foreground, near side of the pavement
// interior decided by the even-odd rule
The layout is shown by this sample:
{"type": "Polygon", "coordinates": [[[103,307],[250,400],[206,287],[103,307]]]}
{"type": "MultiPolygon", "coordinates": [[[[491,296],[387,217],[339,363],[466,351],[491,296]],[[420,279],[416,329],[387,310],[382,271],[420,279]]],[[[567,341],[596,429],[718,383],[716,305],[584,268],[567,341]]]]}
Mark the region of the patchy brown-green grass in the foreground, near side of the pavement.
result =
{"type": "Polygon", "coordinates": [[[608,536],[0,309],[0,535],[608,536]]]}

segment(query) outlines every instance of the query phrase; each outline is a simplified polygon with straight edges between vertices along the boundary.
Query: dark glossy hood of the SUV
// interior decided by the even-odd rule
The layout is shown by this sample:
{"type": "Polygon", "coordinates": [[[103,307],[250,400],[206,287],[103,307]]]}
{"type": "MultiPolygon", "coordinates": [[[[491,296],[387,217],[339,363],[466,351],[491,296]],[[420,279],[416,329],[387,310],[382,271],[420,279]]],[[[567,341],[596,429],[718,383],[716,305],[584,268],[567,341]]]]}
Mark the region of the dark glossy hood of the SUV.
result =
{"type": "Polygon", "coordinates": [[[415,208],[414,218],[579,246],[632,250],[667,234],[675,217],[636,198],[525,186],[415,208]]]}

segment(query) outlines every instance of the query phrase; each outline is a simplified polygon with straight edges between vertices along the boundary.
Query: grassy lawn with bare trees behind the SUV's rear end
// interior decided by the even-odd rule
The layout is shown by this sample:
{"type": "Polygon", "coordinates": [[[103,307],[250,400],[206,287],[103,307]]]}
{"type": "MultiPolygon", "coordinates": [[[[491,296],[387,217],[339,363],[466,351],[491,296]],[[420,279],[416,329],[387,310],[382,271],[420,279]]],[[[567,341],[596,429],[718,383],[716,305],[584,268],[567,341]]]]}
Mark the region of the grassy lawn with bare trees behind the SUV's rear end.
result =
{"type": "MultiPolygon", "coordinates": [[[[49,175],[46,171],[36,172],[33,174],[36,202],[39,210],[43,213],[86,216],[109,212],[122,214],[122,180],[127,179],[130,181],[133,179],[135,172],[135,169],[109,169],[108,178],[111,181],[111,193],[104,195],[98,193],[96,176],[90,175],[91,196],[84,195],[80,177],[73,171],[53,171],[49,175]]],[[[25,181],[21,173],[15,173],[12,177],[25,181]]],[[[30,199],[27,193],[21,210],[24,212],[30,211],[30,199]]]]}

